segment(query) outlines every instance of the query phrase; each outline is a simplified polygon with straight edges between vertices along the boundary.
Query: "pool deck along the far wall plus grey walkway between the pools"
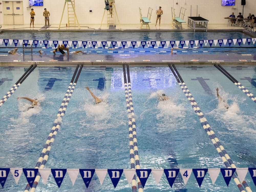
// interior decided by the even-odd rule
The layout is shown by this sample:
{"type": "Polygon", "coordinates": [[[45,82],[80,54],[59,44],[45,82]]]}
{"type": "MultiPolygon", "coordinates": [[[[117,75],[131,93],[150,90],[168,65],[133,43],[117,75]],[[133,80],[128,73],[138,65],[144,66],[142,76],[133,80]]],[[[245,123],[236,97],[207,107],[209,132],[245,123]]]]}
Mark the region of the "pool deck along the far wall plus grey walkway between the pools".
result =
{"type": "MultiPolygon", "coordinates": [[[[186,24],[185,24],[186,25],[186,24]]],[[[184,25],[184,26],[185,26],[184,25]]],[[[164,25],[160,27],[151,27],[151,29],[139,29],[137,26],[125,26],[125,29],[107,29],[103,27],[102,29],[95,29],[96,26],[81,27],[61,27],[58,29],[57,26],[50,26],[50,28],[45,29],[44,27],[35,27],[29,28],[27,25],[23,26],[2,26],[0,29],[0,34],[6,31],[42,31],[42,32],[109,32],[109,31],[193,31],[184,27],[184,29],[172,29],[170,26],[164,25]]],[[[123,28],[123,26],[122,26],[123,28]]],[[[201,30],[197,30],[201,31],[201,30]]],[[[250,32],[246,29],[240,27],[226,26],[226,25],[209,25],[208,32],[212,31],[239,31],[246,33],[247,35],[256,37],[256,33],[250,32]]],[[[206,32],[207,33],[207,32],[206,32]]],[[[170,55],[170,54],[87,54],[87,55],[0,55],[0,66],[29,66],[31,64],[37,64],[41,66],[54,65],[54,66],[71,66],[77,64],[83,65],[122,65],[122,64],[131,64],[131,65],[166,65],[169,63],[175,63],[176,65],[256,65],[256,54],[254,54],[254,49],[252,54],[180,54],[180,55],[170,55]]]]}

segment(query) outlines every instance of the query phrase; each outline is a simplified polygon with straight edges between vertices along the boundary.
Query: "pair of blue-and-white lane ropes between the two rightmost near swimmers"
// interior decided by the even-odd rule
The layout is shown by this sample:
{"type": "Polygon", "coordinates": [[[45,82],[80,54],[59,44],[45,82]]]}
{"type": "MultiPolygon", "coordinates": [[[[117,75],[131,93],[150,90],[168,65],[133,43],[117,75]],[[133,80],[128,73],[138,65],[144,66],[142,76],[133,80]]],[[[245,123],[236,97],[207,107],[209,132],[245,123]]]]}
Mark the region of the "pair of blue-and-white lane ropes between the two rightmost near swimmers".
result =
{"type": "MultiPolygon", "coordinates": [[[[171,66],[169,65],[170,69],[172,70],[174,76],[176,77],[175,72],[173,71],[173,69],[171,68],[171,66]]],[[[175,66],[173,65],[175,71],[177,72],[178,76],[180,77],[177,69],[175,68],[175,66]]],[[[177,79],[177,77],[176,77],[177,79]]],[[[180,79],[182,80],[182,78],[180,77],[180,79]]],[[[178,79],[177,79],[178,81],[178,79]]],[[[190,93],[190,91],[188,90],[186,84],[184,83],[184,81],[182,80],[183,83],[180,83],[180,81],[178,81],[179,86],[181,87],[182,91],[184,92],[184,94],[186,95],[187,99],[189,100],[193,110],[195,111],[195,113],[198,115],[201,125],[204,128],[204,130],[206,131],[206,133],[208,134],[208,136],[210,137],[212,143],[214,144],[216,150],[218,151],[223,163],[225,164],[225,166],[227,168],[236,168],[236,166],[234,165],[233,161],[230,159],[229,155],[227,154],[226,150],[224,149],[224,147],[221,145],[219,139],[216,137],[214,131],[212,131],[209,123],[207,122],[204,114],[202,113],[202,111],[200,110],[199,106],[197,105],[195,99],[193,98],[192,94],[190,93]]],[[[250,187],[248,186],[248,184],[243,181],[242,184],[244,186],[241,185],[241,183],[239,182],[238,178],[236,175],[233,174],[232,178],[234,179],[237,187],[239,188],[239,190],[241,192],[245,192],[244,188],[246,188],[246,190],[248,192],[252,192],[252,190],[250,189],[250,187]]]]}

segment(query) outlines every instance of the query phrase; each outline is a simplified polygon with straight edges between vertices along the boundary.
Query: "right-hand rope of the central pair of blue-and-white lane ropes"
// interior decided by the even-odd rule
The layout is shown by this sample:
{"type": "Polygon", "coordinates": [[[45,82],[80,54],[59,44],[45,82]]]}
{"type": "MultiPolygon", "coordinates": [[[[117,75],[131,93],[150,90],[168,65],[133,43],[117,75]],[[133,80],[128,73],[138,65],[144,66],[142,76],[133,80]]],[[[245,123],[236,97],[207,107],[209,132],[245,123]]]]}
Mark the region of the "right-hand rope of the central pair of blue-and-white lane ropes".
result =
{"type": "MultiPolygon", "coordinates": [[[[127,67],[127,79],[128,79],[129,105],[130,105],[130,109],[131,109],[131,113],[130,113],[130,116],[129,116],[128,120],[129,120],[130,123],[132,123],[132,135],[133,135],[135,168],[136,169],[140,169],[140,159],[139,159],[139,152],[138,152],[135,114],[134,114],[133,103],[132,103],[132,89],[131,89],[129,65],[126,65],[126,67],[127,67]]],[[[142,184],[140,182],[139,177],[137,177],[137,183],[138,183],[138,192],[143,192],[143,186],[142,186],[142,184]]]]}

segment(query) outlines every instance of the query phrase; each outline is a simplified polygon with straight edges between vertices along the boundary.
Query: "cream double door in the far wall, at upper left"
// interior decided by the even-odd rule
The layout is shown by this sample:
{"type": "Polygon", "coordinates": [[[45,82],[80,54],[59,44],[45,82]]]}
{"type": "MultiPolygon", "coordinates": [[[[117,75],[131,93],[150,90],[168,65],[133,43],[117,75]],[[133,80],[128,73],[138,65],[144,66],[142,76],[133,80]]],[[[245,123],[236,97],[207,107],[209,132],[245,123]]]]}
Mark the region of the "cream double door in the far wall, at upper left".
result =
{"type": "Polygon", "coordinates": [[[4,25],[24,25],[23,1],[3,1],[4,25]]]}

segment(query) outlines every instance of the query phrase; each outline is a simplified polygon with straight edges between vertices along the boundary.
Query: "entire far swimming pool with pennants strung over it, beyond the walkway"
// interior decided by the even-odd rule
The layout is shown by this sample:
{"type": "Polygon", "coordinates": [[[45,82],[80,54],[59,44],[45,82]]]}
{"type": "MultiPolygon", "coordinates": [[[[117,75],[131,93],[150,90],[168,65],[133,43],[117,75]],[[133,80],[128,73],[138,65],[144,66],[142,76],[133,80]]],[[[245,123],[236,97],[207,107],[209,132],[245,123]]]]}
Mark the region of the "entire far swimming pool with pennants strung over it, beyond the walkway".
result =
{"type": "MultiPolygon", "coordinates": [[[[177,54],[250,54],[254,51],[256,40],[240,31],[229,33],[216,31],[172,31],[171,33],[166,31],[143,33],[69,31],[58,33],[40,30],[37,32],[19,32],[18,36],[17,31],[4,31],[0,34],[0,39],[3,40],[1,41],[1,55],[7,54],[9,50],[15,47],[18,47],[18,54],[22,54],[23,40],[33,43],[33,54],[39,54],[38,51],[42,50],[42,53],[47,55],[52,54],[59,41],[66,41],[67,45],[70,46],[70,51],[82,50],[84,54],[170,54],[172,47],[180,48],[173,50],[177,54]],[[247,42],[247,39],[250,39],[250,42],[247,42]],[[217,42],[217,40],[221,40],[221,42],[217,42]],[[33,41],[36,41],[36,44],[33,41]],[[178,41],[184,42],[179,43],[178,41]]],[[[31,54],[31,50],[25,50],[25,54],[31,54]]]]}

